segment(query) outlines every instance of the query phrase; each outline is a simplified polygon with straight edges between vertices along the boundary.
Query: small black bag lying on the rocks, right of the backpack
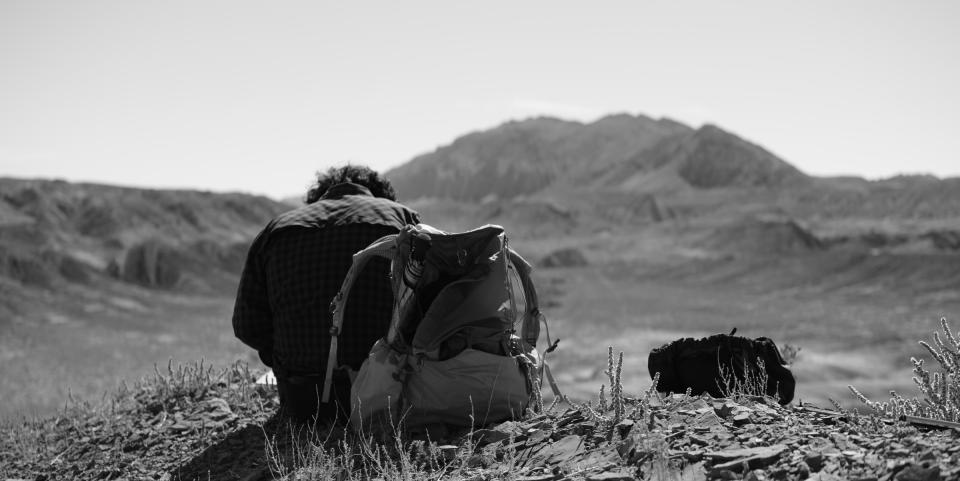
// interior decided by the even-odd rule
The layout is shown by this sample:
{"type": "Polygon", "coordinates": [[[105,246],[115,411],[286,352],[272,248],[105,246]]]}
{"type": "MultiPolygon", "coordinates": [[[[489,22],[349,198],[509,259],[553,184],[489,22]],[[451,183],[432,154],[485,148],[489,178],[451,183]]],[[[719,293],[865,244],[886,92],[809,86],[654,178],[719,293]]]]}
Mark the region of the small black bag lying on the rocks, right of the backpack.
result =
{"type": "Polygon", "coordinates": [[[717,334],[701,339],[678,339],[654,349],[647,358],[650,377],[660,373],[660,392],[708,393],[726,397],[735,392],[777,398],[780,404],[793,400],[796,380],[780,350],[766,337],[747,339],[717,334]]]}

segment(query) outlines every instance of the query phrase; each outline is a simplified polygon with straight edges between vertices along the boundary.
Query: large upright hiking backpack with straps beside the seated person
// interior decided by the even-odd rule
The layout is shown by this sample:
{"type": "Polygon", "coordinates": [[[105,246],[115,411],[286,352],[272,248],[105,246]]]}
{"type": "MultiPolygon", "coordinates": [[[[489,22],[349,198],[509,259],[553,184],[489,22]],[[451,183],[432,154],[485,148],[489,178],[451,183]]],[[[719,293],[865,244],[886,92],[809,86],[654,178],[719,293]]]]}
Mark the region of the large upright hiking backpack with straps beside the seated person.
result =
{"type": "Polygon", "coordinates": [[[451,234],[423,224],[354,255],[331,303],[324,401],[350,289],[377,256],[391,260],[393,316],[354,379],[355,428],[373,419],[407,428],[477,426],[518,418],[542,403],[536,344],[545,318],[530,264],[507,246],[500,226],[451,234]]]}

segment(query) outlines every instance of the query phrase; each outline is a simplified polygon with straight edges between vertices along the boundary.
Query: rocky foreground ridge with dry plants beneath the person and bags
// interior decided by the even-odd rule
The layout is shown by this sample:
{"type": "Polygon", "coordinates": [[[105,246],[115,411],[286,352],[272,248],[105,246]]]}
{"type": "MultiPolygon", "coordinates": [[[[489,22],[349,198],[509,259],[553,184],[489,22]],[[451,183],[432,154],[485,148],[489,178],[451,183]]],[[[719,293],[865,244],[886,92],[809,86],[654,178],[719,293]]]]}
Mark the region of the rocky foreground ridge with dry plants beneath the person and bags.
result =
{"type": "Polygon", "coordinates": [[[960,431],[763,397],[561,404],[437,442],[377,444],[272,416],[235,365],[158,372],[101,406],[8,422],[0,479],[960,479],[960,431]]]}

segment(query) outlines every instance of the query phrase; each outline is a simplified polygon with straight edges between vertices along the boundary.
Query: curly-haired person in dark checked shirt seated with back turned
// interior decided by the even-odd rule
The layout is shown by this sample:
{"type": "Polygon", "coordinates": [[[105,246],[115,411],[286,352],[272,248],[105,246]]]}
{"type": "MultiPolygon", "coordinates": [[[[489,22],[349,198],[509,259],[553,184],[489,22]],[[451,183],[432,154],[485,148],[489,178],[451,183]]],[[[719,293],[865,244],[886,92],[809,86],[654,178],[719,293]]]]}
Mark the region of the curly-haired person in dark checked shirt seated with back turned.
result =
{"type": "MultiPolygon", "coordinates": [[[[346,372],[334,371],[330,402],[320,402],[330,348],[330,301],[355,252],[419,222],[415,211],[396,202],[389,181],[367,167],[348,165],[318,173],[306,205],[272,220],[253,241],[233,330],[273,368],[281,411],[300,420],[347,418],[346,372]]],[[[356,370],[390,325],[389,262],[370,262],[347,306],[338,357],[340,365],[356,370]]]]}

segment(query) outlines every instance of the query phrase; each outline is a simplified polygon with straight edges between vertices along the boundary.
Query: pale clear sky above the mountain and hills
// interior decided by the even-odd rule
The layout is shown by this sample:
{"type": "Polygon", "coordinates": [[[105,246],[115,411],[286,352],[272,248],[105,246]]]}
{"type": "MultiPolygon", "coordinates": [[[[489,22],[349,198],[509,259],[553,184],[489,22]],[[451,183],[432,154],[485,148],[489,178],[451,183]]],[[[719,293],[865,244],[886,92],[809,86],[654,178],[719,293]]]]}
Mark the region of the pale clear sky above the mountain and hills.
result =
{"type": "Polygon", "coordinates": [[[0,0],[0,176],[299,195],[469,131],[712,122],[960,175],[960,2],[0,0]]]}

